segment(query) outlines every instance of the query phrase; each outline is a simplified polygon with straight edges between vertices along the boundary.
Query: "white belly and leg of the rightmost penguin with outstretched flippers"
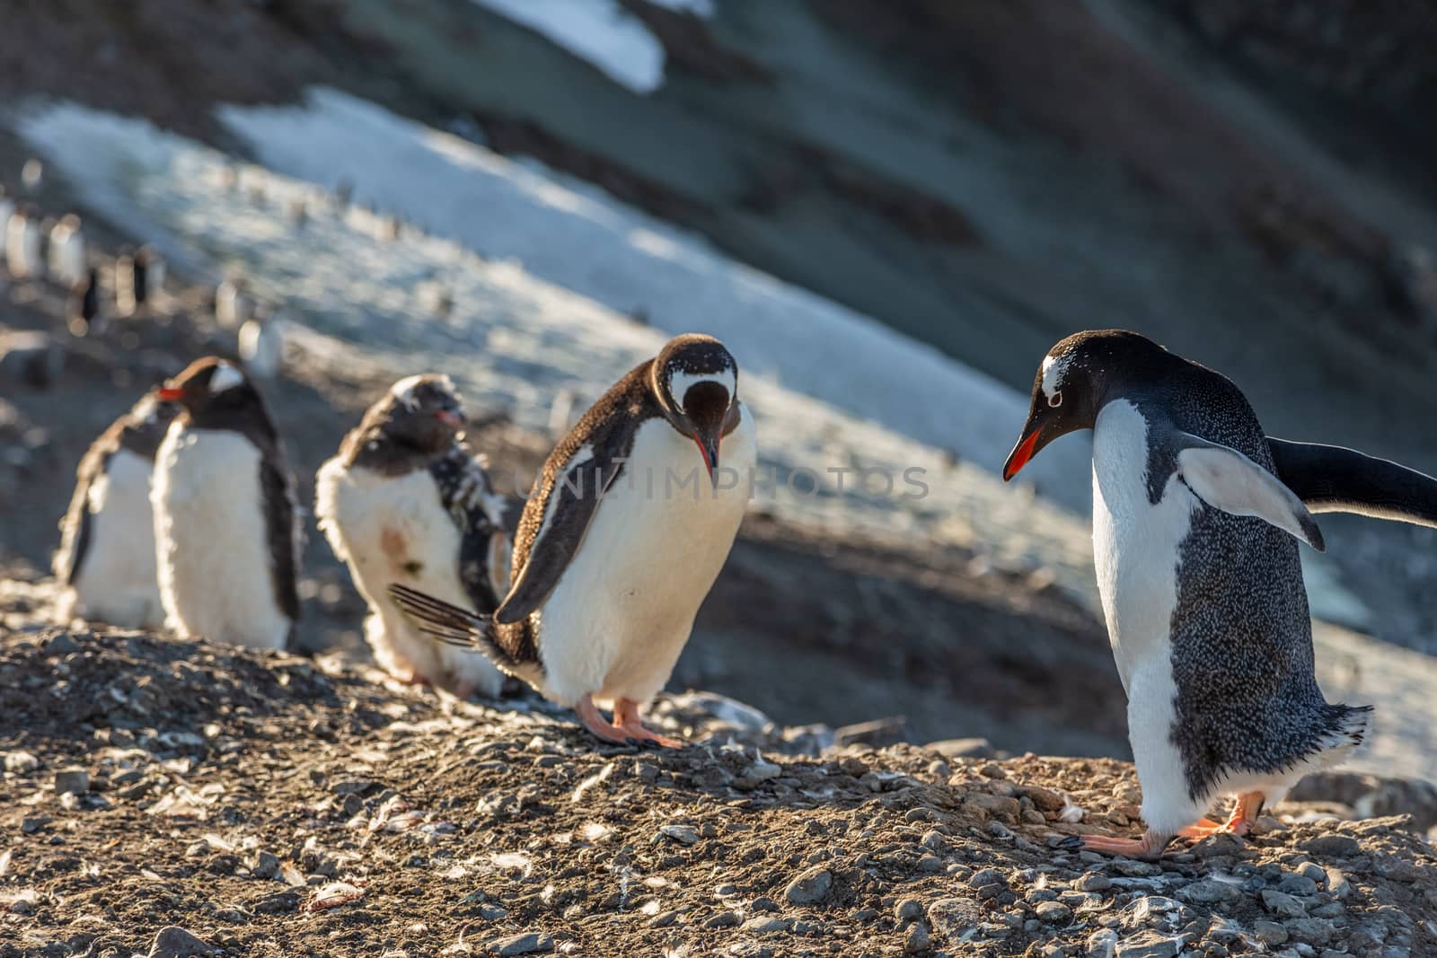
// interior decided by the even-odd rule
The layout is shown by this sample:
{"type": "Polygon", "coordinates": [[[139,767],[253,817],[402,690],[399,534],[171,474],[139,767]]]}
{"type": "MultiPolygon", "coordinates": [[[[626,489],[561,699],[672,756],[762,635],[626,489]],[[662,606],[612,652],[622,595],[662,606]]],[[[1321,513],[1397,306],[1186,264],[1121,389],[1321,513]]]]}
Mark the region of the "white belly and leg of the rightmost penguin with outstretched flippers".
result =
{"type": "Polygon", "coordinates": [[[1178,547],[1201,503],[1167,477],[1154,506],[1147,473],[1147,421],[1131,402],[1109,402],[1094,427],[1094,566],[1108,639],[1128,692],[1128,741],[1142,786],[1142,817],[1150,827],[1171,833],[1203,811],[1188,797],[1183,757],[1171,737],[1178,547]]]}

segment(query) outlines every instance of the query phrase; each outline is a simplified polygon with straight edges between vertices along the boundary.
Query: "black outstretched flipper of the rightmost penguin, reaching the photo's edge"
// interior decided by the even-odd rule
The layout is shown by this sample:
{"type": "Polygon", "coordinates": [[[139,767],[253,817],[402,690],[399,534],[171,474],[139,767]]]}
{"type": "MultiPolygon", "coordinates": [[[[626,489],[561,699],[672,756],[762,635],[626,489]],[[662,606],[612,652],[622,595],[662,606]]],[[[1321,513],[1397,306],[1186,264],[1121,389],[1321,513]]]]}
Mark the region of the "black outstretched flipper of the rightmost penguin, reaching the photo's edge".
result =
{"type": "Polygon", "coordinates": [[[1277,475],[1313,513],[1357,513],[1437,529],[1437,478],[1341,445],[1267,437],[1277,475]]]}

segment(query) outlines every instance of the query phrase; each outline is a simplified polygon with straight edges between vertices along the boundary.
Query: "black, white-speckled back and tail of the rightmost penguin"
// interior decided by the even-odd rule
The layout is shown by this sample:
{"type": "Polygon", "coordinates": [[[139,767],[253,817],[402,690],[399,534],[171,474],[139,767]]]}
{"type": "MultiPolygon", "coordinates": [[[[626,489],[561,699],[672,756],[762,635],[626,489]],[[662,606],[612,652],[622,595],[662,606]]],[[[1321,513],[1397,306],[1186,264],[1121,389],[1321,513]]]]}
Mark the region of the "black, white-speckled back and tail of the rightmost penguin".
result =
{"type": "MultiPolygon", "coordinates": [[[[1171,356],[1171,353],[1168,353],[1171,356]]],[[[1150,419],[1221,442],[1276,474],[1267,437],[1226,376],[1173,356],[1128,392],[1150,419]]],[[[1150,447],[1152,498],[1177,450],[1150,447]]],[[[1177,685],[1173,741],[1194,797],[1226,773],[1280,773],[1332,744],[1355,711],[1328,705],[1313,675],[1312,619],[1298,540],[1270,523],[1200,507],[1178,547],[1171,620],[1177,685]]]]}

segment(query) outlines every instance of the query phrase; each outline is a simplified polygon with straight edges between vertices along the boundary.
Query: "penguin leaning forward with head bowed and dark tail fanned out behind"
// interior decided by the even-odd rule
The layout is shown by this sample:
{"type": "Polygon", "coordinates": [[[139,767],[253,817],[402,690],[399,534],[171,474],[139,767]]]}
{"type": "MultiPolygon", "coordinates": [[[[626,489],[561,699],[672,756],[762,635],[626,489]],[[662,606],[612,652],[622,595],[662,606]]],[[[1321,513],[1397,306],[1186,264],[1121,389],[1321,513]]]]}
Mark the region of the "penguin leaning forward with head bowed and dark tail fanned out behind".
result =
{"type": "Polygon", "coordinates": [[[639,710],[668,681],[733,547],[756,460],[733,356],[711,336],[678,336],[549,455],[493,618],[402,585],[391,595],[433,635],[477,645],[573,708],[596,737],[677,747],[639,710]],[[595,699],[612,702],[612,721],[595,699]]]}

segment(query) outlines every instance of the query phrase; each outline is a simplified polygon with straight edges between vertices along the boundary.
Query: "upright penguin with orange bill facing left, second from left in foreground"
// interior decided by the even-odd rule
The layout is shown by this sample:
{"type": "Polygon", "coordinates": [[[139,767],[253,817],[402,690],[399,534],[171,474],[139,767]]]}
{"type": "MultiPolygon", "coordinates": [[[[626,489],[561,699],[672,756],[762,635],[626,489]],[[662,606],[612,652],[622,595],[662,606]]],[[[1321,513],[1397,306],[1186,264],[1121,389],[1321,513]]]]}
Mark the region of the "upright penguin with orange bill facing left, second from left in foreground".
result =
{"type": "Polygon", "coordinates": [[[155,460],[160,595],[182,638],[282,649],[299,620],[293,480],[260,394],[197,359],[160,389],[180,405],[155,460]]]}

